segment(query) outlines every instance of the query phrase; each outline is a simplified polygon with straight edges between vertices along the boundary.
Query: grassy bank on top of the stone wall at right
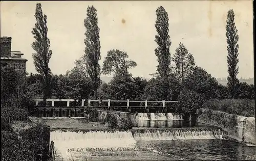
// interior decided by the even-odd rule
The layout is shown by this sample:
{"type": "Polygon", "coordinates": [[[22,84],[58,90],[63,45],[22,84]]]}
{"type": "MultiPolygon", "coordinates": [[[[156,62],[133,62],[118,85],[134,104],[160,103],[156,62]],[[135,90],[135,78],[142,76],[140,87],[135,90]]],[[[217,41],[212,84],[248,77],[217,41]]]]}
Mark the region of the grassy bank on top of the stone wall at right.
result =
{"type": "Polygon", "coordinates": [[[233,115],[255,117],[254,99],[211,99],[206,100],[202,107],[204,109],[222,111],[233,115]]]}

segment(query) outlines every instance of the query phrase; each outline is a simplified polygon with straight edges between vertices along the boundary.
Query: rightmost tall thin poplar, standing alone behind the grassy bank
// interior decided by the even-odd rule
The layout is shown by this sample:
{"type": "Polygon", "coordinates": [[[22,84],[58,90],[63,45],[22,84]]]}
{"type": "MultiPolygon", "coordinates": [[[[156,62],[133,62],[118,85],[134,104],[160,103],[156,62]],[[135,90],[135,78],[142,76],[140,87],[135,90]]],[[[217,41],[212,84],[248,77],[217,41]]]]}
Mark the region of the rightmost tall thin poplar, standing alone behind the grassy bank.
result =
{"type": "Polygon", "coordinates": [[[234,23],[234,11],[229,10],[227,14],[227,25],[226,25],[226,37],[227,37],[227,64],[228,64],[228,73],[227,77],[228,83],[227,86],[231,91],[233,98],[236,98],[236,91],[239,85],[239,79],[237,78],[238,74],[238,30],[236,24],[234,23]]]}

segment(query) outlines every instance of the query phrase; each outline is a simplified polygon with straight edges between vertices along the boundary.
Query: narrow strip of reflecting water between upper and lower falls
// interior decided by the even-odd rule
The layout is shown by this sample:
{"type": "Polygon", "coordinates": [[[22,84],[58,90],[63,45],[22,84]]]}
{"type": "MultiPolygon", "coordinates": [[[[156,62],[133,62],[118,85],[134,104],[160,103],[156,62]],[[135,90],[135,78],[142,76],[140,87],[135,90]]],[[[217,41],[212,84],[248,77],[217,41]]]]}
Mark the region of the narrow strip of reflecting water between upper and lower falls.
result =
{"type": "Polygon", "coordinates": [[[133,127],[207,127],[206,124],[184,120],[133,120],[133,127]]]}

